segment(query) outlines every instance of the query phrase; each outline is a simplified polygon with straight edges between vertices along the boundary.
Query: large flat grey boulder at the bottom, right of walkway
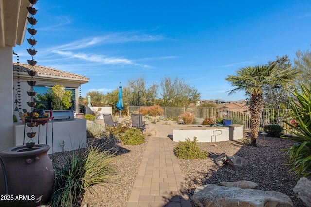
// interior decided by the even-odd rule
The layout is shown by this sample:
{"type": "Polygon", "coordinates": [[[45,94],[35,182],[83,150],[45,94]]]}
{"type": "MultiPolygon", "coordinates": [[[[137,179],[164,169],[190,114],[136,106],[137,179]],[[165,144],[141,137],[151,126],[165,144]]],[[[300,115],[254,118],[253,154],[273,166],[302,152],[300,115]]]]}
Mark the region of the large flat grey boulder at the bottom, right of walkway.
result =
{"type": "Polygon", "coordinates": [[[199,207],[293,207],[292,200],[280,192],[215,184],[196,188],[192,200],[199,207]]]}

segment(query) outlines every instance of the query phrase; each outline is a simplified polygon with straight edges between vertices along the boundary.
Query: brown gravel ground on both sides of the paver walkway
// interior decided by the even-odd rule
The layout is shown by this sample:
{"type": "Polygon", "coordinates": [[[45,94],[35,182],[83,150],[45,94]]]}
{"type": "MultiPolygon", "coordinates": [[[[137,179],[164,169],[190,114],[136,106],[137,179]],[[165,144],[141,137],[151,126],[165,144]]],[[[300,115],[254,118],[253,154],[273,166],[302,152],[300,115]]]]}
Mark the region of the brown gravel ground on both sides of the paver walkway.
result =
{"type": "MultiPolygon", "coordinates": [[[[247,135],[246,135],[247,136],[247,135]]],[[[196,187],[209,183],[219,184],[222,181],[249,180],[259,184],[257,189],[279,191],[288,195],[294,207],[306,207],[294,194],[296,178],[288,173],[285,165],[286,156],[280,149],[289,148],[293,142],[280,138],[259,136],[257,147],[245,146],[242,140],[217,143],[198,143],[199,147],[208,152],[203,160],[178,159],[185,179],[190,198],[196,187]],[[229,165],[217,166],[214,159],[221,153],[228,156],[238,155],[248,161],[245,168],[233,168],[229,165]]],[[[146,143],[128,146],[117,143],[119,153],[114,157],[117,169],[114,182],[96,185],[91,193],[86,193],[82,201],[88,207],[126,207],[139,165],[143,157],[146,143]]],[[[176,146],[178,143],[173,142],[176,146]]],[[[62,153],[54,154],[55,162],[61,162],[62,153]]],[[[193,207],[196,207],[192,203],[193,207]]]]}

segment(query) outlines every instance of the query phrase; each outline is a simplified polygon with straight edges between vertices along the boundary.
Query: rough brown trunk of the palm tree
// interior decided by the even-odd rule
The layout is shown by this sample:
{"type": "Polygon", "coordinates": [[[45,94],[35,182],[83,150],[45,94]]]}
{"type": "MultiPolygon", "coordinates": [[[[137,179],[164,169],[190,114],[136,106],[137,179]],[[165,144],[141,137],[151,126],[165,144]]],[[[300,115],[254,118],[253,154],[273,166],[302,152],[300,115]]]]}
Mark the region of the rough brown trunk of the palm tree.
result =
{"type": "Polygon", "coordinates": [[[256,146],[259,126],[262,116],[263,98],[262,95],[252,94],[249,101],[249,111],[251,113],[251,146],[256,146]]]}

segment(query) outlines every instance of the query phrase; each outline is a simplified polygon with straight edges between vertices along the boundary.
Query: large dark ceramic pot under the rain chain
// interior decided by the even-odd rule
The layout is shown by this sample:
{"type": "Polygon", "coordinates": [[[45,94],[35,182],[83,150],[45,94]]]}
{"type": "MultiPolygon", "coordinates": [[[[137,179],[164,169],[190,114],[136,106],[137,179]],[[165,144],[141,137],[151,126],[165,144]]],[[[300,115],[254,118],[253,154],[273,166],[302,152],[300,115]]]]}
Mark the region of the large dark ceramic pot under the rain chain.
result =
{"type": "Polygon", "coordinates": [[[49,149],[49,145],[35,144],[33,148],[23,145],[0,152],[0,195],[8,193],[0,199],[0,207],[48,204],[54,185],[49,149]],[[41,201],[36,203],[40,197],[41,201]]]}

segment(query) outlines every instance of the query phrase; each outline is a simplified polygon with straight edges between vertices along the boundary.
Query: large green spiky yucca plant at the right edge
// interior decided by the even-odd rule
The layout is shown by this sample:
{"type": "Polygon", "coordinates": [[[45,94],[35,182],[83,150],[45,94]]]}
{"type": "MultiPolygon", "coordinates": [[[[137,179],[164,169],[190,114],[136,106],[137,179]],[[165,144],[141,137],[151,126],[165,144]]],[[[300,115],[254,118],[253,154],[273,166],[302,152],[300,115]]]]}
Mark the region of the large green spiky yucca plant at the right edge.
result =
{"type": "Polygon", "coordinates": [[[291,148],[284,149],[289,153],[287,164],[290,166],[290,172],[295,172],[297,180],[301,175],[311,175],[311,83],[309,86],[300,84],[300,87],[301,90],[294,87],[291,92],[295,98],[289,97],[295,122],[286,124],[295,130],[292,130],[293,135],[281,136],[297,142],[291,148]]]}

